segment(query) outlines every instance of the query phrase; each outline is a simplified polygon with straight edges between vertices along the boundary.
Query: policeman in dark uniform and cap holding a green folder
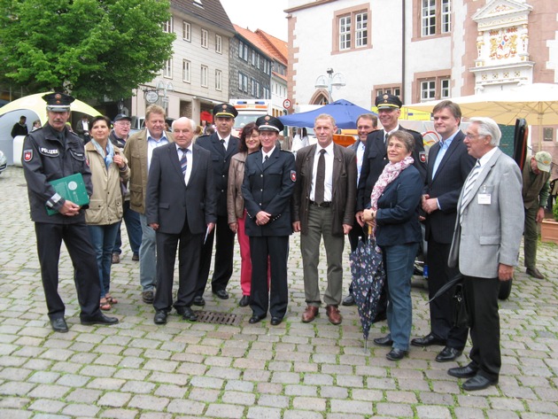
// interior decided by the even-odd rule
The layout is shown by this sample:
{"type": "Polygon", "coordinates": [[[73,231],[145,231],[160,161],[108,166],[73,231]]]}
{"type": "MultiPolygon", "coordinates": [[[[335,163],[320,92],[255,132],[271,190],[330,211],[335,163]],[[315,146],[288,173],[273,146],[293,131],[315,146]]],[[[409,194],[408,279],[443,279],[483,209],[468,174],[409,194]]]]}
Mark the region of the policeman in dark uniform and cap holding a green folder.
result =
{"type": "Polygon", "coordinates": [[[85,224],[84,210],[93,190],[89,163],[80,137],[66,128],[74,97],[50,93],[43,99],[47,104],[48,123],[25,138],[21,161],[27,180],[31,219],[35,221],[50,325],[54,331],[68,331],[64,302],[58,295],[58,260],[62,240],[74,265],[81,324],[115,324],[118,323],[117,318],[107,317],[99,310],[101,289],[97,259],[85,224]],[[80,175],[76,176],[77,179],[63,179],[75,174],[80,174],[81,179],[80,175]],[[56,189],[52,183],[58,183],[56,189]],[[75,193],[70,196],[68,191],[75,193]]]}

